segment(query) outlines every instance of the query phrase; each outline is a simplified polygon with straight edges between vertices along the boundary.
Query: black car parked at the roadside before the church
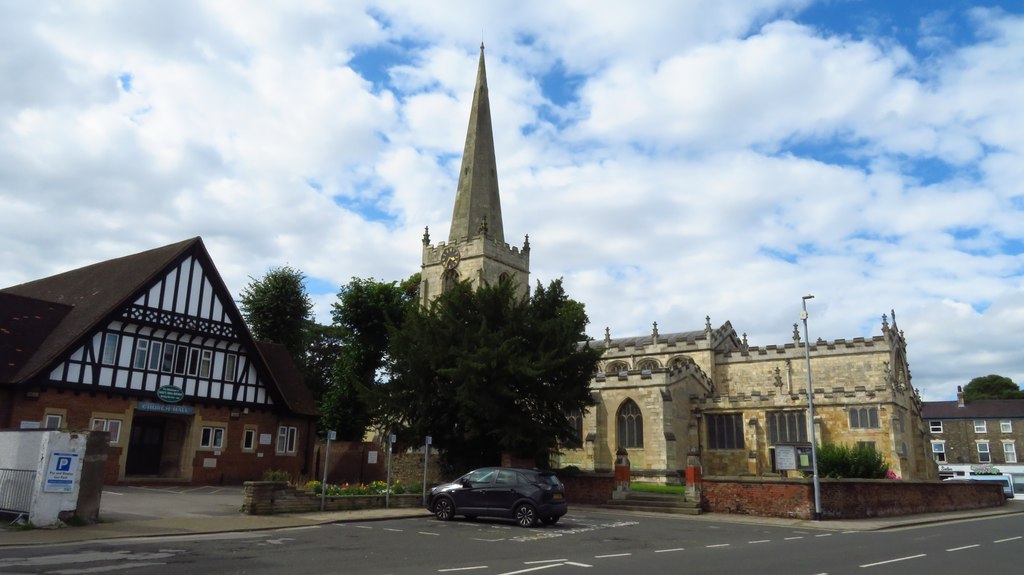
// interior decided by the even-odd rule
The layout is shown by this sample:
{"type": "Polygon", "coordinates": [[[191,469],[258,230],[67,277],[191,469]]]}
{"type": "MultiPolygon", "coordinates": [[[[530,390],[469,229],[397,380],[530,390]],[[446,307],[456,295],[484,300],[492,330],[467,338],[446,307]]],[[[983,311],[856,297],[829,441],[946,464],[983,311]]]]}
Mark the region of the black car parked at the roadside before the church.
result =
{"type": "Polygon", "coordinates": [[[548,471],[515,468],[473,470],[452,483],[430,490],[427,508],[441,521],[457,515],[506,517],[520,527],[538,521],[553,525],[568,512],[565,489],[548,471]]]}

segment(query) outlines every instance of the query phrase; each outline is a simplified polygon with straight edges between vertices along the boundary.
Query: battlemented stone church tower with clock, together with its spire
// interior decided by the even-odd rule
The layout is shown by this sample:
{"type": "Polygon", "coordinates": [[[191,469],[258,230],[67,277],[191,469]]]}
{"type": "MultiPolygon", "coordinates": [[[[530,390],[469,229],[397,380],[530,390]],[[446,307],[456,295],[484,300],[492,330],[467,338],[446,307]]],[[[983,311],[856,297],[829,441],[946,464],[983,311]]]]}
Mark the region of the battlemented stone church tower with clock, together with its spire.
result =
{"type": "Polygon", "coordinates": [[[422,303],[426,305],[459,281],[468,279],[478,288],[502,277],[512,278],[520,294],[529,293],[529,236],[522,249],[505,242],[481,43],[447,242],[431,245],[429,230],[423,233],[422,303]]]}

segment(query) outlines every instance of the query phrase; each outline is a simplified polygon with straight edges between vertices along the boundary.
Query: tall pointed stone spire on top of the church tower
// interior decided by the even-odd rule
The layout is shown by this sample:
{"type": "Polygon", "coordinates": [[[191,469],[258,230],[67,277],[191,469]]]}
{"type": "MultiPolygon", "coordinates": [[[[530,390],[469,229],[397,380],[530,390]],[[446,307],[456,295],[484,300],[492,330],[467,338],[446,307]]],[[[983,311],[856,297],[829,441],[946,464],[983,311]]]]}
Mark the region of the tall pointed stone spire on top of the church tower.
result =
{"type": "Polygon", "coordinates": [[[476,69],[473,107],[469,113],[466,148],[459,170],[459,188],[452,213],[449,242],[484,235],[505,242],[502,205],[498,195],[498,164],[495,161],[495,135],[490,129],[490,103],[487,100],[487,75],[483,67],[483,43],[476,69]]]}

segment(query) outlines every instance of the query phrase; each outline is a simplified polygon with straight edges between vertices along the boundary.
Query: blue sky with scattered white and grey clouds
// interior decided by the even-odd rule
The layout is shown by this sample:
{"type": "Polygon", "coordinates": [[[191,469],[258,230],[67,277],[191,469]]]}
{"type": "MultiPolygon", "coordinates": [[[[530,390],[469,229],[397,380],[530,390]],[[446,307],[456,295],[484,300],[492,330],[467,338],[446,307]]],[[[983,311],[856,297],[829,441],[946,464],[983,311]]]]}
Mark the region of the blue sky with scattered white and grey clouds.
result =
{"type": "Polygon", "coordinates": [[[419,270],[481,40],[506,239],[589,334],[881,334],[1024,383],[1024,6],[0,0],[0,285],[202,235],[233,294],[419,270]]]}

